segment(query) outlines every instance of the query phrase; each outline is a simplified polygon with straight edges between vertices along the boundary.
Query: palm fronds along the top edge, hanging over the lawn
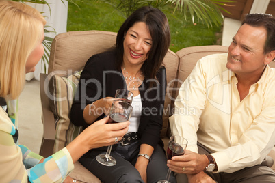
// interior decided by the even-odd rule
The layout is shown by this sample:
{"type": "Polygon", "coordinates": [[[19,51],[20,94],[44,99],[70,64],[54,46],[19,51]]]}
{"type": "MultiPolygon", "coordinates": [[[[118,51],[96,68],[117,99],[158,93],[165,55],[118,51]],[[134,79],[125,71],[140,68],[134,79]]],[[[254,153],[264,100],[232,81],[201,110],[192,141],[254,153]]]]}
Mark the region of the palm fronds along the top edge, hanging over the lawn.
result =
{"type": "MultiPolygon", "coordinates": [[[[98,1],[98,0],[97,0],[98,1]]],[[[208,27],[213,26],[214,23],[217,27],[222,25],[224,17],[220,10],[230,13],[221,5],[226,3],[233,3],[230,0],[101,0],[105,3],[112,5],[122,16],[127,18],[133,11],[137,10],[144,5],[152,5],[155,8],[163,9],[167,3],[174,5],[174,12],[183,12],[185,20],[187,17],[197,18],[201,20],[208,27]]]]}

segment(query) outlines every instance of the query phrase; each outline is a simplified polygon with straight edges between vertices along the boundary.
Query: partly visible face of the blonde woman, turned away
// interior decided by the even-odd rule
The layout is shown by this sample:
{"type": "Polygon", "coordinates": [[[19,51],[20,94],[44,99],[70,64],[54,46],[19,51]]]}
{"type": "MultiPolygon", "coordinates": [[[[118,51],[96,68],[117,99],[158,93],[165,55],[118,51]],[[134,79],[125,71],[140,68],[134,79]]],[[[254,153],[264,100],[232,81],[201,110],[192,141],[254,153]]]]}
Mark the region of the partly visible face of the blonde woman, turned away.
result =
{"type": "Polygon", "coordinates": [[[44,36],[42,36],[42,38],[41,38],[40,42],[38,43],[38,45],[36,45],[34,50],[31,52],[31,54],[27,58],[26,73],[34,72],[34,70],[36,70],[36,67],[35,67],[36,64],[38,63],[38,61],[40,61],[40,59],[44,55],[44,47],[42,45],[43,40],[44,40],[44,36]]]}

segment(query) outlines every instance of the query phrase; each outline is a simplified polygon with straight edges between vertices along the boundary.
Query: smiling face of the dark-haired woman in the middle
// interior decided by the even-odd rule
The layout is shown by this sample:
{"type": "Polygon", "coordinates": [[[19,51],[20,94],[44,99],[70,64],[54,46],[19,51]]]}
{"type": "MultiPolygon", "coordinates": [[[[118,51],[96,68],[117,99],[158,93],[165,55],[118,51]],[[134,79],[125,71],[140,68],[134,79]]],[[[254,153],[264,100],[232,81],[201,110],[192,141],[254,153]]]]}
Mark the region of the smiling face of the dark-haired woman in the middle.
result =
{"type": "Polygon", "coordinates": [[[137,22],[125,33],[123,62],[128,66],[142,66],[152,46],[152,37],[144,22],[137,22]]]}

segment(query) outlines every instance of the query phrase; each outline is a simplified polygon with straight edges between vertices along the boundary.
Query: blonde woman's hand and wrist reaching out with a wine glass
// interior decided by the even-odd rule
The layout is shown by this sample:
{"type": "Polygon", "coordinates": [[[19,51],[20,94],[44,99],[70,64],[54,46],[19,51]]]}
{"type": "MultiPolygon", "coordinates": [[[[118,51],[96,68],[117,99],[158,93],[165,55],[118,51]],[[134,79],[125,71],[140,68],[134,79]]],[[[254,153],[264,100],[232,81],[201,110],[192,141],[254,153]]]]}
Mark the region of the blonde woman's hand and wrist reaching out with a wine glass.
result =
{"type": "Polygon", "coordinates": [[[116,137],[121,140],[128,131],[129,121],[107,124],[108,119],[109,117],[105,117],[94,122],[67,145],[67,150],[70,152],[74,163],[90,149],[116,143],[116,137]]]}

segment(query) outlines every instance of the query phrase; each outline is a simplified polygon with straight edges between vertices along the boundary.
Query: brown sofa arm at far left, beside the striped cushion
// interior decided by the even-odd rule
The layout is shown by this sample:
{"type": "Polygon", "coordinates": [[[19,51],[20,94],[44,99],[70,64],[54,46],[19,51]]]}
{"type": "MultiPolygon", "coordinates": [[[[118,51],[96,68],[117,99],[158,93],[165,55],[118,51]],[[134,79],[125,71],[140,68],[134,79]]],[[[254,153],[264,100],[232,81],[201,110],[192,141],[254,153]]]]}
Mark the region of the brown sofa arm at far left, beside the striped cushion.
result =
{"type": "Polygon", "coordinates": [[[44,134],[42,137],[39,154],[45,158],[53,154],[53,147],[55,144],[55,119],[49,105],[49,97],[46,94],[48,91],[48,85],[46,92],[44,88],[44,83],[49,83],[49,81],[47,81],[47,76],[47,74],[40,74],[40,98],[42,104],[42,122],[44,134]]]}

